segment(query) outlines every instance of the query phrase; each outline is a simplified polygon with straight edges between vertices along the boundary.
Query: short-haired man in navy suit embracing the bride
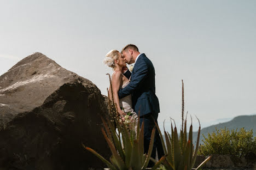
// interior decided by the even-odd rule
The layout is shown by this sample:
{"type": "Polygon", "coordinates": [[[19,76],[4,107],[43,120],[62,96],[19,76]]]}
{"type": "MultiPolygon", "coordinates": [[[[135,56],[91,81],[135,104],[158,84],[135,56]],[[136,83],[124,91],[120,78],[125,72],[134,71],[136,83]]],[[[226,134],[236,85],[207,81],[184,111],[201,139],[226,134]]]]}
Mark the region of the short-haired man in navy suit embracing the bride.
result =
{"type": "MultiPolygon", "coordinates": [[[[139,53],[138,48],[129,44],[121,51],[127,64],[135,63],[131,73],[131,82],[118,92],[119,98],[132,94],[132,107],[138,114],[140,125],[144,122],[144,153],[148,153],[150,137],[158,119],[159,101],[155,95],[155,69],[152,62],[144,53],[139,53]]],[[[158,157],[164,155],[158,130],[155,133],[152,157],[155,159],[156,148],[158,157]]],[[[149,163],[149,167],[154,165],[149,163]]]]}

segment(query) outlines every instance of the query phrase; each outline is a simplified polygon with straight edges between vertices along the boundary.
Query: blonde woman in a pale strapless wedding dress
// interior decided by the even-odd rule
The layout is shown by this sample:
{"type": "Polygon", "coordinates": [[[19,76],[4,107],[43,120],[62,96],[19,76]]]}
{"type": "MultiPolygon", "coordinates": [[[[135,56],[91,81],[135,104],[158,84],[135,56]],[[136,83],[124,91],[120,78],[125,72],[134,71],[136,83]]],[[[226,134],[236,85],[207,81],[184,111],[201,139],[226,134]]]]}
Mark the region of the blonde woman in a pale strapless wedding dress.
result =
{"type": "MultiPolygon", "coordinates": [[[[122,74],[122,69],[126,66],[124,57],[118,50],[111,50],[106,54],[104,64],[113,68],[111,80],[113,100],[117,104],[117,111],[120,114],[120,117],[124,117],[127,113],[132,113],[132,117],[137,119],[137,114],[132,109],[131,94],[121,99],[118,97],[118,90],[126,87],[130,83],[128,78],[122,74]],[[123,108],[124,111],[121,108],[123,108]]],[[[110,99],[112,99],[111,94],[111,88],[109,88],[110,99]]]]}

